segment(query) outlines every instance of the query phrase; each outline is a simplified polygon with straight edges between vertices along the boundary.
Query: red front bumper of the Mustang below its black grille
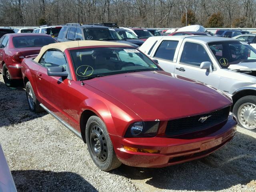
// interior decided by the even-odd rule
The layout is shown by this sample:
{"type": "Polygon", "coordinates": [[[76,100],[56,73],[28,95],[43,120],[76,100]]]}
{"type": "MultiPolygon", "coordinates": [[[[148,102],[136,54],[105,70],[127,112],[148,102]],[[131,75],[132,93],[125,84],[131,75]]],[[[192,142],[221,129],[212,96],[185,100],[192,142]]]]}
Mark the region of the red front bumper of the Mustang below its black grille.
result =
{"type": "Polygon", "coordinates": [[[152,137],[123,138],[110,135],[118,159],[128,166],[165,167],[202,158],[218,150],[234,137],[236,119],[230,115],[222,124],[212,127],[216,130],[196,138],[189,137],[152,137]],[[159,150],[158,154],[132,152],[123,146],[140,149],[159,150]]]}

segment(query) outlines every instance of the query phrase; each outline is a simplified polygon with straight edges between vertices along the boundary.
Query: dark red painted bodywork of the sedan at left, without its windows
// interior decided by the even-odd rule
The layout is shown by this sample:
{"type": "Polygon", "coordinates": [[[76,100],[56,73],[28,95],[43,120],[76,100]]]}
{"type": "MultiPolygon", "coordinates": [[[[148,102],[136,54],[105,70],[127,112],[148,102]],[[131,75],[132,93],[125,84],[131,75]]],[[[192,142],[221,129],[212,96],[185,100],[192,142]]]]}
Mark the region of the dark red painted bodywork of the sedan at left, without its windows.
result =
{"type": "Polygon", "coordinates": [[[18,36],[49,36],[49,35],[33,34],[33,33],[12,33],[12,34],[6,34],[4,36],[8,37],[8,44],[5,48],[0,49],[0,72],[1,73],[3,72],[3,66],[5,65],[5,67],[8,68],[12,79],[22,79],[21,69],[20,69],[22,60],[18,62],[14,60],[13,56],[18,52],[21,52],[22,56],[24,57],[29,55],[35,55],[40,52],[41,47],[15,48],[13,45],[12,39],[18,36]]]}

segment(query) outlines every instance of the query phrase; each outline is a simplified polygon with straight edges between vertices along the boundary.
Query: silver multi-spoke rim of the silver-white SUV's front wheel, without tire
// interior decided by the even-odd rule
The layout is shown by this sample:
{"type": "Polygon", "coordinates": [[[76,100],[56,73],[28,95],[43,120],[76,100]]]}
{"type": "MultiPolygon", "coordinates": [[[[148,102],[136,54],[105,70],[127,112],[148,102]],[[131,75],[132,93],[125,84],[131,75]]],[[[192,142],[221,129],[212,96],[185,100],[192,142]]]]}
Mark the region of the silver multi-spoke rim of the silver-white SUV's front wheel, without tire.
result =
{"type": "Polygon", "coordinates": [[[244,103],[238,108],[238,121],[247,129],[256,128],[256,105],[244,103]]]}

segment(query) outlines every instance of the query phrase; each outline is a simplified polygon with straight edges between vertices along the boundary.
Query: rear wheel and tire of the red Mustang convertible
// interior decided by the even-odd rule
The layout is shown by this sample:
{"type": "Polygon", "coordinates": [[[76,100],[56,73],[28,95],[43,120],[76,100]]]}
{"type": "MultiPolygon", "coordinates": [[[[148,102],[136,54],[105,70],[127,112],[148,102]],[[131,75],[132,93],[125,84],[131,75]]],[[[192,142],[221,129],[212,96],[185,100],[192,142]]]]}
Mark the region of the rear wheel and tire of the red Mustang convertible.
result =
{"type": "Polygon", "coordinates": [[[35,113],[40,113],[43,110],[43,108],[40,106],[39,101],[36,98],[36,95],[34,94],[34,90],[30,84],[30,82],[26,83],[26,95],[27,95],[27,100],[28,100],[28,106],[30,111],[35,112],[35,113]]]}

